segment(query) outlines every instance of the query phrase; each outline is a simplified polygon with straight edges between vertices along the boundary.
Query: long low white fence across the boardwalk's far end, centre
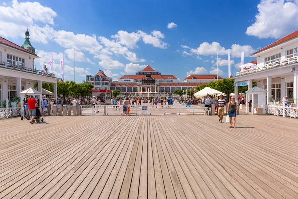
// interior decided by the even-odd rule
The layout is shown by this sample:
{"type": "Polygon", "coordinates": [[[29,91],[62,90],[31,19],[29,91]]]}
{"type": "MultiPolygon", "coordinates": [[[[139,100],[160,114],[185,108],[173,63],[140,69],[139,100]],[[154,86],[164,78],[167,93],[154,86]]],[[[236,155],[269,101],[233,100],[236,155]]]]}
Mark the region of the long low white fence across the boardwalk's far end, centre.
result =
{"type": "MultiPolygon", "coordinates": [[[[122,106],[106,105],[106,106],[82,106],[82,115],[122,115],[122,106]]],[[[134,105],[130,106],[130,115],[186,115],[200,114],[203,115],[203,105],[134,105]]]]}

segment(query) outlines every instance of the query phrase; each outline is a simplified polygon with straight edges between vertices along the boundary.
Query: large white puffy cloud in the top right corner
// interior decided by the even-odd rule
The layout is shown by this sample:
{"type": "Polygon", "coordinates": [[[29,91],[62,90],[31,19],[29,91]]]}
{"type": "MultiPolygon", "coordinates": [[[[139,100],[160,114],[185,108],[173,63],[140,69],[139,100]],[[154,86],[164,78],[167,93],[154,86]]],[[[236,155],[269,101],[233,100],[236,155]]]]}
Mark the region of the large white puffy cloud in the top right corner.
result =
{"type": "Polygon", "coordinates": [[[261,0],[255,22],[246,30],[247,35],[259,38],[281,38],[297,30],[297,0],[261,0]]]}

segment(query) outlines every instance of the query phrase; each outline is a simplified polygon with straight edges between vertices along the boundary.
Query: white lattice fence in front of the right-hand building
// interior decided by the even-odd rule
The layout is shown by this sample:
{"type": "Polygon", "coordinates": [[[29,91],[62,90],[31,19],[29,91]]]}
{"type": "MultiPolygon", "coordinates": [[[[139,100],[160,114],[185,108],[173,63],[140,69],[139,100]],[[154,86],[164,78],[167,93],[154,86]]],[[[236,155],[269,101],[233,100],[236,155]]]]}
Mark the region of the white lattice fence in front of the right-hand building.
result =
{"type": "Polygon", "coordinates": [[[298,117],[298,107],[288,107],[281,105],[267,105],[266,106],[267,114],[279,115],[279,116],[288,116],[296,118],[298,117]]]}

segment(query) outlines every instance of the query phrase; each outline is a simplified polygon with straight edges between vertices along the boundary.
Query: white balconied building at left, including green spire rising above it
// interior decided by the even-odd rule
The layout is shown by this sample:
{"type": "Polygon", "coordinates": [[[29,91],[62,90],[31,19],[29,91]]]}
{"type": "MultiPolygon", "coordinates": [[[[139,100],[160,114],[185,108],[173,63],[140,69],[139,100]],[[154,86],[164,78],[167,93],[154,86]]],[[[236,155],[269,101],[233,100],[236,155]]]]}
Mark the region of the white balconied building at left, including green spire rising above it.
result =
{"type": "Polygon", "coordinates": [[[0,37],[0,106],[2,100],[10,100],[20,96],[21,91],[33,88],[35,82],[40,92],[42,82],[54,83],[54,97],[57,98],[57,78],[47,71],[36,70],[34,60],[40,57],[30,43],[28,30],[25,35],[23,46],[0,37]]]}

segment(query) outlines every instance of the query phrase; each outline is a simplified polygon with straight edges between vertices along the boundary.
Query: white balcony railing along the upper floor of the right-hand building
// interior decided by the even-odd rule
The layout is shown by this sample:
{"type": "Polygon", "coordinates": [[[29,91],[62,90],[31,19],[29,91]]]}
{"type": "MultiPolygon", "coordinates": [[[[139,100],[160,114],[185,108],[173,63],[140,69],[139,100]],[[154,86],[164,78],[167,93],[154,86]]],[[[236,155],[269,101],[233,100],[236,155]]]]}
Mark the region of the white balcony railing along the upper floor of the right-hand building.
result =
{"type": "Polygon", "coordinates": [[[298,60],[298,56],[287,58],[283,61],[280,60],[280,61],[277,61],[277,62],[265,64],[261,68],[256,67],[256,68],[250,68],[250,69],[247,69],[247,70],[244,70],[244,71],[237,72],[236,76],[246,75],[246,74],[255,73],[255,72],[259,72],[259,71],[264,71],[264,70],[279,67],[279,66],[284,66],[284,65],[287,65],[287,64],[297,63],[298,62],[297,60],[298,60]]]}

